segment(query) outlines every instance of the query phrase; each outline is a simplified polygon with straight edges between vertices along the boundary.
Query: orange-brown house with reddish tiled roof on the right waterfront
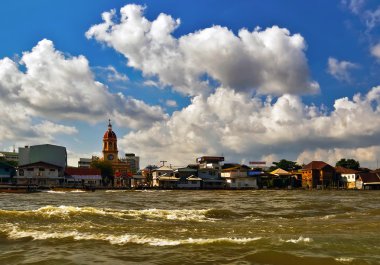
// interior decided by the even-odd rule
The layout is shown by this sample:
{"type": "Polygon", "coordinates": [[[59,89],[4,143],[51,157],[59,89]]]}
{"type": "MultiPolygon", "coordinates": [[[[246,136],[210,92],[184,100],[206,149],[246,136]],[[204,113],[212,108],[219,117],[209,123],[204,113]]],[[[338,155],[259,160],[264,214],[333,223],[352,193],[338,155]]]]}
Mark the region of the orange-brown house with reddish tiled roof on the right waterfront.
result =
{"type": "Polygon", "coordinates": [[[323,161],[312,161],[302,168],[303,188],[327,188],[335,186],[335,168],[323,161]]]}

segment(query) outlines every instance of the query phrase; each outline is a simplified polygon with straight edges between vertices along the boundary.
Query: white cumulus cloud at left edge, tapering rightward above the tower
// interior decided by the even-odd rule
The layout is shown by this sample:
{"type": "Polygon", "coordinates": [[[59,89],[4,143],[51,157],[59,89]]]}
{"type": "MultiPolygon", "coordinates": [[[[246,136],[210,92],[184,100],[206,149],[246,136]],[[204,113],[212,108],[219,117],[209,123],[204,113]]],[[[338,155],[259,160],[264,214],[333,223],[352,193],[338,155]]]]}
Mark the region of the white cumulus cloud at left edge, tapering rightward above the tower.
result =
{"type": "Polygon", "coordinates": [[[166,117],[158,106],[110,93],[94,79],[84,56],[65,57],[50,40],[24,52],[20,64],[25,72],[18,62],[0,60],[0,100],[22,105],[31,117],[97,122],[113,116],[116,123],[130,128],[166,117]]]}

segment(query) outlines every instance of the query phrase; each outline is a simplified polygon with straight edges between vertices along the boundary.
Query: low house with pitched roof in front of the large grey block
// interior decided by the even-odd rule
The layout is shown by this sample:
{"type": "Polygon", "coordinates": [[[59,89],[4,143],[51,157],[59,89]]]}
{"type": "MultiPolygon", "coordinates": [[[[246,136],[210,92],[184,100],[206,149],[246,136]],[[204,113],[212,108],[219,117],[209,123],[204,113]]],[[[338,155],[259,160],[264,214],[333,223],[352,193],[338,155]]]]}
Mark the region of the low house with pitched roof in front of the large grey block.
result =
{"type": "Polygon", "coordinates": [[[46,162],[35,162],[18,167],[17,184],[56,187],[64,184],[64,169],[46,162]]]}

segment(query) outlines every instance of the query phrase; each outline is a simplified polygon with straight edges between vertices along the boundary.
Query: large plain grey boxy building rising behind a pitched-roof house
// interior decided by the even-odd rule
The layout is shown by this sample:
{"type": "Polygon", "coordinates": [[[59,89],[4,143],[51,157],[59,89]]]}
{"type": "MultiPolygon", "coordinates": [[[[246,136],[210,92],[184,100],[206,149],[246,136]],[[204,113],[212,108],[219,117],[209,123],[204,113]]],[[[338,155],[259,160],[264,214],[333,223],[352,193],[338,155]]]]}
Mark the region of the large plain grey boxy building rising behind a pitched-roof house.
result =
{"type": "Polygon", "coordinates": [[[67,152],[66,147],[41,144],[33,146],[19,147],[19,166],[43,162],[52,164],[62,169],[67,166],[67,152]]]}

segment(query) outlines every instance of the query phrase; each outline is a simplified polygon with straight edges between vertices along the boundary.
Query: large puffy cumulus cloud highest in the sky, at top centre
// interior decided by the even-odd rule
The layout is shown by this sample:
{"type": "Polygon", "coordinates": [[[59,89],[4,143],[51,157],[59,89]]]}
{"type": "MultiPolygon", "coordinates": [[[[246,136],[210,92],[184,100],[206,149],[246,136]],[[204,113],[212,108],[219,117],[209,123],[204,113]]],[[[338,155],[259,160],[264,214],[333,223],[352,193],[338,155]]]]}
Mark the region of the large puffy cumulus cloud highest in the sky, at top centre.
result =
{"type": "Polygon", "coordinates": [[[319,91],[310,78],[300,34],[273,26],[241,29],[236,35],[226,27],[212,26],[175,38],[179,19],[161,13],[149,21],[143,11],[142,6],[126,5],[119,19],[115,10],[104,12],[103,23],[92,26],[86,37],[114,48],[128,59],[128,66],[158,78],[161,86],[188,95],[210,93],[214,81],[238,92],[319,91]]]}

